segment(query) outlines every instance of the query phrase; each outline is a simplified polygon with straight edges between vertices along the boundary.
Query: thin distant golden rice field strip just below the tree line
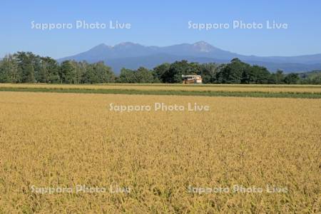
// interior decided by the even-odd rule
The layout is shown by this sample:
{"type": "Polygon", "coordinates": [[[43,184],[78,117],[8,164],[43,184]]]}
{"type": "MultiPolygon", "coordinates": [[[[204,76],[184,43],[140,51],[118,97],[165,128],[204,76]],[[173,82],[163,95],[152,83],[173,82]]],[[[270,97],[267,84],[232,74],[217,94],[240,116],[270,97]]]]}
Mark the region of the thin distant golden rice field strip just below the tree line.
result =
{"type": "Polygon", "coordinates": [[[321,93],[320,85],[226,85],[226,84],[10,84],[1,83],[0,88],[83,88],[83,89],[131,89],[142,91],[263,91],[263,92],[308,92],[321,93]]]}

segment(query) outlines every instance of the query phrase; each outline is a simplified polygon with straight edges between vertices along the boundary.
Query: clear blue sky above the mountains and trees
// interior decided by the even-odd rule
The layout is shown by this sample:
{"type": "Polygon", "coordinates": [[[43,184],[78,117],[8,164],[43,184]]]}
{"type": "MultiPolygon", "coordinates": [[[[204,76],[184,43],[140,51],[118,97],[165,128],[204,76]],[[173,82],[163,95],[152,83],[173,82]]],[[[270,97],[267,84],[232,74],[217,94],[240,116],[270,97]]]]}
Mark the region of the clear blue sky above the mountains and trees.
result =
{"type": "Polygon", "coordinates": [[[0,4],[0,57],[33,51],[60,58],[97,44],[132,41],[143,45],[207,41],[238,54],[296,56],[321,53],[321,1],[9,1],[0,4]],[[131,29],[31,29],[35,23],[116,21],[131,29]],[[288,29],[188,29],[193,23],[263,23],[288,29]]]}

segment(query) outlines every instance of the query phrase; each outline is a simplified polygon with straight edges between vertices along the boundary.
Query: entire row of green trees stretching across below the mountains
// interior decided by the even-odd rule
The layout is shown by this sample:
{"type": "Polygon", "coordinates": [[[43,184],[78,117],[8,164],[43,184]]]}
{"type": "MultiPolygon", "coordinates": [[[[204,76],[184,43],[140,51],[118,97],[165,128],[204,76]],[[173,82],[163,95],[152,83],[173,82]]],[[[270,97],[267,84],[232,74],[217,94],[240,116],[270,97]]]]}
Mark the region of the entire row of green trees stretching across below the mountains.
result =
{"type": "Polygon", "coordinates": [[[119,76],[103,62],[63,61],[31,52],[17,52],[0,61],[0,83],[181,83],[182,75],[201,75],[203,83],[295,84],[321,83],[320,76],[306,78],[297,73],[270,73],[234,58],[230,63],[175,61],[153,69],[122,68],[119,76]]]}

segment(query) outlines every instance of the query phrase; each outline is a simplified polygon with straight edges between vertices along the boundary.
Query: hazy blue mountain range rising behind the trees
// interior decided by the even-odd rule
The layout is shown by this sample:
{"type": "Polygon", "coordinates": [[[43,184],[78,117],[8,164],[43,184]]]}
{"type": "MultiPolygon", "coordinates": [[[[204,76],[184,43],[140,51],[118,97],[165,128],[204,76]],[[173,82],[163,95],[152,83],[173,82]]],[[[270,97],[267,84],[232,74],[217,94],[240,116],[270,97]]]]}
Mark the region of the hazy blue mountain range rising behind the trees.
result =
{"type": "Polygon", "coordinates": [[[187,60],[199,63],[228,63],[233,58],[240,58],[250,64],[265,66],[269,71],[281,69],[285,73],[305,72],[321,69],[321,54],[303,56],[245,56],[218,49],[205,41],[194,44],[173,46],[143,46],[132,42],[123,42],[115,46],[99,44],[92,49],[73,56],[59,58],[58,61],[75,60],[94,63],[104,61],[113,71],[121,68],[136,69],[140,66],[153,68],[161,63],[187,60]]]}

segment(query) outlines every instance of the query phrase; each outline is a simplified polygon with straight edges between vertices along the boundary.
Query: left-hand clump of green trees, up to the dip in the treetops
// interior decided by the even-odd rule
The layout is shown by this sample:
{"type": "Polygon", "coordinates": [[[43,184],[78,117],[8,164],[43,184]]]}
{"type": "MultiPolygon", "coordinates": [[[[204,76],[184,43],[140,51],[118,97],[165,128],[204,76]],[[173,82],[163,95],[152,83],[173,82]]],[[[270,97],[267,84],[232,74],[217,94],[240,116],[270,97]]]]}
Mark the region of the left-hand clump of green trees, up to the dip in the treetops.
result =
{"type": "Polygon", "coordinates": [[[63,61],[17,52],[0,61],[0,83],[113,83],[115,74],[103,62],[63,61]]]}

